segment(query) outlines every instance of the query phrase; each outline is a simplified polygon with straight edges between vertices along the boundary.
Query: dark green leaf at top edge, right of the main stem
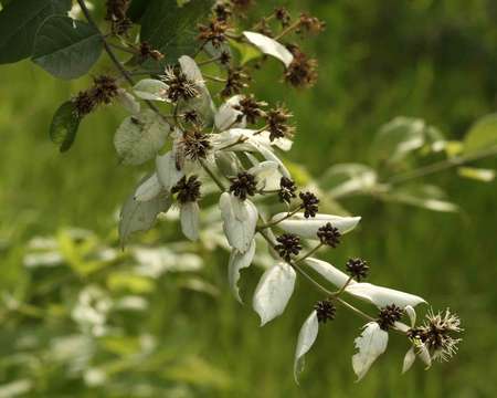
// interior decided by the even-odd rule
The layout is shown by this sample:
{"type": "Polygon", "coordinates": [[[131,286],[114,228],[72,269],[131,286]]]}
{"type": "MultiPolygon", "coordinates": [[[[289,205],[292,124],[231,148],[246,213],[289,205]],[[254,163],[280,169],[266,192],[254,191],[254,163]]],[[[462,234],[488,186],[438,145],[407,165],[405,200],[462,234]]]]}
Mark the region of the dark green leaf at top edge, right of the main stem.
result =
{"type": "Polygon", "coordinates": [[[212,4],[212,0],[194,0],[180,7],[177,0],[150,0],[141,18],[140,38],[166,56],[160,64],[146,61],[145,67],[157,70],[181,55],[192,55],[200,45],[197,25],[209,15],[212,4]]]}

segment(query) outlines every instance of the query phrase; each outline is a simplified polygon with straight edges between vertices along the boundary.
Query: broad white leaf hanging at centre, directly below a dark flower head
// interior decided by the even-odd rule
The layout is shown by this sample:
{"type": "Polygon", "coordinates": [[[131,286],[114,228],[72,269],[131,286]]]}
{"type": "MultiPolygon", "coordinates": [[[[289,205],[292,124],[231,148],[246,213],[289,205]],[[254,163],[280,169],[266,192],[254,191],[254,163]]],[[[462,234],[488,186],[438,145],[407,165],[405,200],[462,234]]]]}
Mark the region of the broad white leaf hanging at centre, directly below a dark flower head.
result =
{"type": "Polygon", "coordinates": [[[223,230],[233,249],[244,253],[248,250],[257,224],[257,208],[248,199],[223,192],[219,200],[223,230]]]}

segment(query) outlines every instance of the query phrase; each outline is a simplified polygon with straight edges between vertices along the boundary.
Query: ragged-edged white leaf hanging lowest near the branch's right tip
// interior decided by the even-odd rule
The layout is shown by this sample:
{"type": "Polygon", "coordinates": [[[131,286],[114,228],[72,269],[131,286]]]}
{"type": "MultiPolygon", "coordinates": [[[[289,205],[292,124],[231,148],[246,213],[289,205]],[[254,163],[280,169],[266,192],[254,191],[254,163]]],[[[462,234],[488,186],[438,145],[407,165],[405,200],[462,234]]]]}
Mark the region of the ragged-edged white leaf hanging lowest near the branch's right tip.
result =
{"type": "Polygon", "coordinates": [[[352,368],[357,375],[357,381],[368,373],[374,360],[387,350],[389,334],[380,328],[377,322],[370,322],[359,337],[355,339],[358,352],[352,356],[352,368]]]}

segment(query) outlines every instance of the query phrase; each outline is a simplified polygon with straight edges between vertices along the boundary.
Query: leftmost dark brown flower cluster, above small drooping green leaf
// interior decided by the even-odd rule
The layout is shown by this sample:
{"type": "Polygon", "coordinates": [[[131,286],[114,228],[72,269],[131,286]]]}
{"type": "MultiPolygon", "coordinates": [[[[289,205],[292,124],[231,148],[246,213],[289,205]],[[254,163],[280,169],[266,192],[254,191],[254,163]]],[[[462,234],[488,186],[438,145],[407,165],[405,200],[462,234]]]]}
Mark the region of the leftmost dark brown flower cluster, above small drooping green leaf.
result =
{"type": "Polygon", "coordinates": [[[80,92],[73,100],[80,117],[92,113],[101,104],[109,104],[119,94],[114,77],[102,75],[94,78],[93,86],[80,92]]]}

